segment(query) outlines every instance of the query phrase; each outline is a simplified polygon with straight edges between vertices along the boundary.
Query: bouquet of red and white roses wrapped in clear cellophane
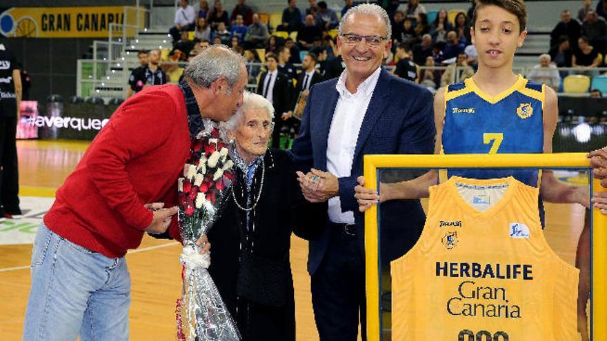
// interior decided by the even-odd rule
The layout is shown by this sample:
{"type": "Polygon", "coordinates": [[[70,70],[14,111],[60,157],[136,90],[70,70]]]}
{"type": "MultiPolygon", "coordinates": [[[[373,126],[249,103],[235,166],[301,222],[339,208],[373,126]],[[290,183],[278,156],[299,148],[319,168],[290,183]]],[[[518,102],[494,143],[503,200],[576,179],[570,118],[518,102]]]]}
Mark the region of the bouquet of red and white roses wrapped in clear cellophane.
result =
{"type": "Polygon", "coordinates": [[[184,267],[183,296],[177,300],[178,340],[240,340],[207,271],[210,256],[199,254],[201,247],[195,244],[219,218],[235,178],[233,165],[217,125],[206,121],[205,129],[192,141],[183,178],[178,180],[179,233],[183,241],[179,260],[184,267]]]}

